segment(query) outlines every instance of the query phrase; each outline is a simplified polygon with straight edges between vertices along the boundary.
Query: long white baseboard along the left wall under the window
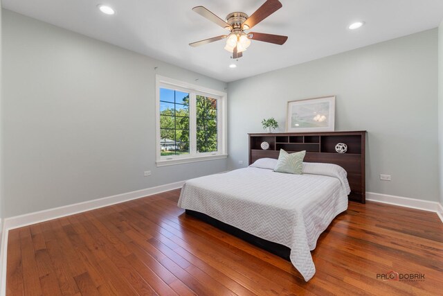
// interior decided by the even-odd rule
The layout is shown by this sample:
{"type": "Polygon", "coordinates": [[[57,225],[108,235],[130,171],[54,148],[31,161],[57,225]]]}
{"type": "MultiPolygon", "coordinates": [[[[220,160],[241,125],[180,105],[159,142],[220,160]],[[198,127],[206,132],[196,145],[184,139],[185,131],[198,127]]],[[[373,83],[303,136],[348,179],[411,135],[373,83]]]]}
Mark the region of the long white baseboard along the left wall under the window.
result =
{"type": "Polygon", "coordinates": [[[69,204],[63,207],[56,207],[53,209],[45,209],[43,211],[36,211],[30,214],[24,214],[20,216],[5,218],[4,228],[6,231],[15,229],[18,227],[24,227],[35,223],[44,222],[47,220],[53,220],[64,216],[78,214],[83,211],[90,211],[92,209],[98,209],[100,207],[107,207],[111,204],[118,204],[120,202],[126,202],[128,200],[136,200],[137,198],[143,198],[148,195],[170,191],[172,189],[179,189],[185,184],[185,181],[174,182],[161,186],[156,186],[148,189],[142,189],[138,191],[132,191],[122,193],[118,195],[108,196],[107,198],[99,198],[97,200],[88,200],[86,202],[79,202],[77,204],[69,204]]]}

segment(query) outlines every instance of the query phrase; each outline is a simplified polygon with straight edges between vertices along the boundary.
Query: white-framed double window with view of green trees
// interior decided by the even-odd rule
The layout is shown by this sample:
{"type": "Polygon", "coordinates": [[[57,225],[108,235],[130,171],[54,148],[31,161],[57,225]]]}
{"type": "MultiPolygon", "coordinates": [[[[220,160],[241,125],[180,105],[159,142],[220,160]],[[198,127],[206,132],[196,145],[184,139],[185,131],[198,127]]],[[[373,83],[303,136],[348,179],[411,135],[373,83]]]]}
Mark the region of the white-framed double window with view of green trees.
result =
{"type": "Polygon", "coordinates": [[[226,93],[156,77],[157,166],[226,158],[226,93]]]}

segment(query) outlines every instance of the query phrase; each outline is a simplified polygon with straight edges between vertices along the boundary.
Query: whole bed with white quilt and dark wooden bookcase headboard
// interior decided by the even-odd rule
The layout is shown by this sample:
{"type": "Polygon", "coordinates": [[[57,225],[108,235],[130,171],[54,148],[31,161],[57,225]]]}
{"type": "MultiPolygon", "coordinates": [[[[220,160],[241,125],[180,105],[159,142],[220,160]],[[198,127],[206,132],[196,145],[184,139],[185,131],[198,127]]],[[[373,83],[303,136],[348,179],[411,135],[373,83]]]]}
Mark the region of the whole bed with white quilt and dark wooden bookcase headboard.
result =
{"type": "Polygon", "coordinates": [[[179,207],[288,259],[309,281],[318,236],[348,200],[365,203],[365,137],[365,131],[249,134],[251,166],[187,181],[179,207]],[[336,153],[337,143],[347,144],[347,153],[336,153]],[[280,149],[307,151],[302,175],[273,171],[280,149]]]}

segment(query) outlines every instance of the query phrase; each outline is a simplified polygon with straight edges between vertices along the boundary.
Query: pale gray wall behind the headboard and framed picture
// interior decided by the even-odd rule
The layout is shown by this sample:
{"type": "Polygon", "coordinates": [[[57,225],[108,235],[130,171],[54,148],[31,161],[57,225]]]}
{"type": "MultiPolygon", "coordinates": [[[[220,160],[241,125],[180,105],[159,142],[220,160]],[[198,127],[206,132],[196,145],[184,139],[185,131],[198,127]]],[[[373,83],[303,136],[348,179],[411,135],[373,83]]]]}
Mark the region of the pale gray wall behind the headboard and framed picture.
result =
{"type": "Polygon", "coordinates": [[[247,164],[262,119],[284,131],[287,101],[336,95],[336,130],[368,130],[367,191],[438,200],[437,29],[230,82],[228,94],[229,168],[247,164]]]}

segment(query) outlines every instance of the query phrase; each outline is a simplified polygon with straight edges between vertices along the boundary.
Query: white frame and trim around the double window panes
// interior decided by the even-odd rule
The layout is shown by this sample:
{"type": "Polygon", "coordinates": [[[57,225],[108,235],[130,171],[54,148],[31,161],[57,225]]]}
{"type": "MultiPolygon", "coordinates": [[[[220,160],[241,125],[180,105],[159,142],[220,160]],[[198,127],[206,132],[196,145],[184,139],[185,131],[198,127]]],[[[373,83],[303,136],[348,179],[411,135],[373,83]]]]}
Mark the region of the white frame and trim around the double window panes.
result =
{"type": "Polygon", "coordinates": [[[165,76],[156,75],[156,166],[171,166],[174,164],[188,164],[190,162],[203,162],[206,160],[224,159],[227,154],[227,108],[228,94],[215,89],[208,89],[188,82],[175,80],[165,76]],[[160,145],[160,88],[169,88],[189,93],[189,141],[190,153],[188,155],[161,156],[160,145]],[[197,153],[197,115],[196,96],[209,96],[217,98],[217,151],[197,153]]]}

